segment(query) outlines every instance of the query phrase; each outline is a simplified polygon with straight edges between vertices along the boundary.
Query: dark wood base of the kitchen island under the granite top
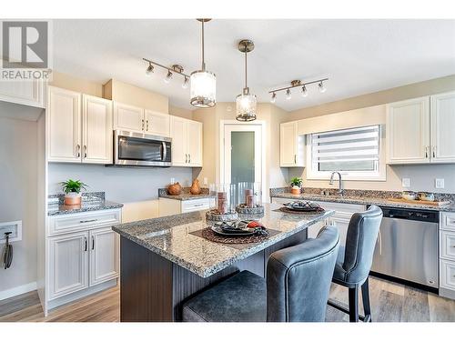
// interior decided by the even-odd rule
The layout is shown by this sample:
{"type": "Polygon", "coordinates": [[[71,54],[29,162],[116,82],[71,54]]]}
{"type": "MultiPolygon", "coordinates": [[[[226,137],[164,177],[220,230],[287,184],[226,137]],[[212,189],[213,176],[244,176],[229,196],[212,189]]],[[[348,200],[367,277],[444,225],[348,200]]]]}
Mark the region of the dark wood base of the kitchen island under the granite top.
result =
{"type": "Polygon", "coordinates": [[[208,286],[248,270],[265,276],[268,257],[307,239],[307,230],[259,251],[207,278],[157,255],[122,236],[120,245],[120,320],[173,322],[182,320],[182,304],[208,286]]]}

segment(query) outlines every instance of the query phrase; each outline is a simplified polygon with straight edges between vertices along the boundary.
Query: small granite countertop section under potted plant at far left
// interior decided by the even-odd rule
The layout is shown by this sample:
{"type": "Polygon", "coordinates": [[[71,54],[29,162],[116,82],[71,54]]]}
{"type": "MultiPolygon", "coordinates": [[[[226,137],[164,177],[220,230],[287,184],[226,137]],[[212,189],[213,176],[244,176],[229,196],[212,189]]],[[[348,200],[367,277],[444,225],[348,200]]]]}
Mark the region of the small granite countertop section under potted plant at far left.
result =
{"type": "Polygon", "coordinates": [[[105,209],[121,208],[123,204],[118,204],[105,199],[104,192],[84,193],[80,206],[64,205],[63,195],[52,195],[48,198],[47,216],[70,215],[89,211],[100,211],[105,209]]]}

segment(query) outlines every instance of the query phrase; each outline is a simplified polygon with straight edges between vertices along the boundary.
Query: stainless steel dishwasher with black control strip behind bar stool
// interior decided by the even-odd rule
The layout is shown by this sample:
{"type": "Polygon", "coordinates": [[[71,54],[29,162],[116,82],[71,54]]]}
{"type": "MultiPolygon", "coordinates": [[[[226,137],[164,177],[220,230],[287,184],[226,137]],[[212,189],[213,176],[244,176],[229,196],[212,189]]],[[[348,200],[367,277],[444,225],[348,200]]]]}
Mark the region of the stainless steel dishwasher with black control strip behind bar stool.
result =
{"type": "Polygon", "coordinates": [[[439,287],[437,211],[380,206],[380,224],[372,275],[439,287]]]}

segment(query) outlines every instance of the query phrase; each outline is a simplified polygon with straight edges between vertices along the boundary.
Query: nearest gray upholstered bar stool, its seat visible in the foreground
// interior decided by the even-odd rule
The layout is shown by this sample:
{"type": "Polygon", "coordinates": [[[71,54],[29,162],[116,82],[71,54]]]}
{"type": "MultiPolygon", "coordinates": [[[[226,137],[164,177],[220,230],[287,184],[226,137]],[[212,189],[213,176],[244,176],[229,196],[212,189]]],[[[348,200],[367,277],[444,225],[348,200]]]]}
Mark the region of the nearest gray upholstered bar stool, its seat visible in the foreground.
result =
{"type": "Polygon", "coordinates": [[[339,232],[329,226],[298,246],[274,252],[267,281],[242,271],[189,299],[187,322],[324,321],[339,232]]]}

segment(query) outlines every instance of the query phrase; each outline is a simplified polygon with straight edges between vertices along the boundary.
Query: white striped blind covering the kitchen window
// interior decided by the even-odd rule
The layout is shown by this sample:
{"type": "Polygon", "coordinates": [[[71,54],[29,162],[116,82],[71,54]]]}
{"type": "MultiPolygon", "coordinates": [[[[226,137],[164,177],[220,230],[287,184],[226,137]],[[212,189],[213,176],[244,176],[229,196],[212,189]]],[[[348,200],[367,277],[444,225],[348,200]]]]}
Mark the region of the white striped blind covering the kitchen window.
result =
{"type": "Polygon", "coordinates": [[[379,161],[379,125],[312,134],[311,148],[317,164],[379,161]]]}

